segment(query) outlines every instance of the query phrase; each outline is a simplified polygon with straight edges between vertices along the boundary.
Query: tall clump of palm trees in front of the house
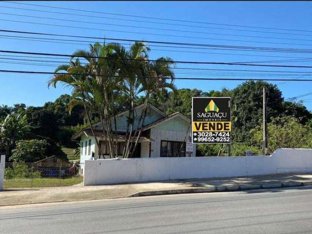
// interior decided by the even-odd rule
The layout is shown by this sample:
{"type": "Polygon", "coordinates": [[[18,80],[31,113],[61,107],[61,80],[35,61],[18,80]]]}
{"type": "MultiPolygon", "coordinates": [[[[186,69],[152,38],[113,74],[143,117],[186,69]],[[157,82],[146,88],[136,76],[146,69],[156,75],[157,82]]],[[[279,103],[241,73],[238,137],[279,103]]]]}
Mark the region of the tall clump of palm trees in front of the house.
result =
{"type": "MultiPolygon", "coordinates": [[[[176,90],[173,84],[175,76],[171,70],[174,64],[172,59],[159,58],[155,62],[150,62],[149,51],[150,48],[143,42],[135,42],[128,51],[118,43],[107,45],[95,43],[90,45],[89,50],[75,51],[69,65],[62,65],[56,69],[57,73],[64,71],[65,74],[56,74],[49,81],[49,86],[51,84],[56,86],[57,82],[62,82],[73,88],[71,107],[79,103],[85,107],[86,112],[88,108],[98,111],[111,158],[117,156],[116,115],[120,103],[130,107],[122,154],[123,157],[129,157],[136,150],[150,95],[159,95],[166,88],[176,90]],[[85,59],[87,64],[82,66],[79,58],[85,59]],[[171,81],[167,82],[167,79],[171,81]],[[135,106],[137,96],[141,93],[145,93],[145,100],[137,122],[135,106]],[[112,130],[113,126],[115,131],[112,130]],[[135,144],[131,144],[134,137],[135,144]]],[[[98,148],[101,150],[88,113],[87,117],[98,148]]]]}

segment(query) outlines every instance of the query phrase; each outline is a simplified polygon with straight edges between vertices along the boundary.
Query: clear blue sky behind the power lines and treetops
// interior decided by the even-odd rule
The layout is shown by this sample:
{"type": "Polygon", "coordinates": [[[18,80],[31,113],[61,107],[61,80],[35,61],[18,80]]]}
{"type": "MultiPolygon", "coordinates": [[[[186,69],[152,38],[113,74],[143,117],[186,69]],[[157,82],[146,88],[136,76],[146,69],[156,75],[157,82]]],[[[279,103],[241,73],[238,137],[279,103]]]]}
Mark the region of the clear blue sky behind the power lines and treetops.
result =
{"type": "MultiPolygon", "coordinates": [[[[117,13],[127,14],[136,16],[147,16],[147,17],[159,17],[159,18],[170,18],[178,20],[192,20],[202,22],[212,22],[221,24],[234,24],[234,25],[246,25],[266,28],[286,28],[286,29],[299,29],[299,30],[310,30],[311,26],[311,12],[312,2],[196,2],[196,1],[182,1],[182,2],[92,2],[92,1],[63,1],[63,2],[50,2],[50,1],[36,1],[36,2],[23,2],[41,4],[47,6],[59,6],[67,8],[75,8],[90,11],[100,11],[106,13],[117,13]]],[[[135,22],[132,20],[148,20],[140,18],[130,18],[124,16],[115,15],[104,15],[96,13],[84,13],[77,11],[66,11],[60,9],[51,9],[38,6],[29,6],[14,4],[8,2],[0,2],[0,28],[6,30],[20,30],[20,31],[33,31],[33,32],[44,32],[44,33],[57,33],[67,35],[79,35],[79,36],[95,36],[105,38],[120,38],[120,39],[146,39],[146,40],[159,40],[159,41],[176,41],[176,42],[191,42],[191,43],[205,43],[205,44],[219,44],[219,45],[240,45],[240,46],[259,46],[259,47],[279,47],[279,48],[300,48],[300,49],[312,49],[312,32],[296,32],[296,31],[282,31],[272,29],[255,29],[246,27],[234,27],[234,26],[222,26],[214,24],[195,24],[178,21],[166,21],[166,20],[150,20],[164,23],[177,23],[177,24],[189,24],[195,26],[206,26],[206,27],[218,27],[223,29],[212,29],[212,28],[198,28],[198,27],[186,27],[178,25],[165,25],[156,23],[146,22],[135,22]],[[118,18],[123,20],[113,19],[97,19],[82,16],[68,16],[54,13],[43,13],[35,11],[27,11],[21,9],[12,9],[5,7],[18,7],[27,9],[37,9],[45,11],[56,11],[56,12],[70,12],[82,15],[102,16],[109,18],[118,18]],[[65,20],[80,20],[80,21],[92,21],[90,23],[78,23],[68,22],[62,20],[46,20],[36,19],[22,16],[12,16],[6,14],[18,14],[26,16],[38,16],[38,17],[49,17],[58,18],[65,20]],[[28,21],[28,22],[40,22],[49,24],[61,24],[74,27],[90,27],[98,30],[90,29],[77,29],[60,26],[49,26],[30,24],[22,22],[11,22],[5,20],[17,20],[17,21],[28,21]],[[140,29],[131,28],[125,26],[115,25],[104,25],[96,23],[110,23],[110,24],[122,24],[130,26],[140,27],[153,27],[163,29],[175,29],[175,30],[186,30],[196,31],[197,33],[186,33],[186,32],[173,32],[166,30],[156,29],[140,29]],[[247,29],[254,31],[266,31],[271,33],[256,33],[246,31],[235,31],[231,29],[247,29]],[[125,32],[112,32],[108,30],[121,30],[129,31],[125,32]],[[132,32],[132,33],[130,33],[132,32]],[[297,33],[303,35],[287,35],[287,34],[274,34],[279,33],[297,33]],[[148,35],[152,34],[166,34],[172,36],[159,36],[159,35],[148,35]],[[207,34],[205,34],[207,33],[207,34]],[[225,35],[214,35],[208,33],[220,33],[220,34],[235,34],[239,36],[225,36],[225,35]],[[306,36],[310,35],[310,36],[306,36]],[[257,37],[275,37],[275,38],[287,38],[287,39],[262,39],[253,37],[243,36],[257,36],[257,37]],[[185,38],[185,37],[201,37],[206,39],[198,38],[185,38]],[[304,39],[304,40],[302,40],[304,39]],[[311,41],[309,41],[311,39],[311,41]],[[233,40],[254,40],[258,42],[241,42],[233,40]],[[272,42],[272,43],[261,43],[261,42],[272,42]],[[281,44],[285,43],[285,44],[281,44]],[[287,44],[289,43],[289,44],[287,44]],[[293,45],[304,44],[304,45],[293,45]]],[[[3,36],[27,36],[18,34],[0,33],[0,50],[16,50],[16,51],[28,51],[28,52],[41,52],[41,53],[60,53],[60,54],[71,54],[78,48],[87,48],[87,45],[77,44],[63,44],[63,43],[47,43],[39,41],[29,40],[17,40],[7,39],[3,36]]],[[[29,35],[28,35],[29,36],[29,35]]],[[[2,55],[8,55],[0,53],[0,69],[3,70],[24,70],[24,71],[51,71],[53,72],[55,67],[53,66],[39,66],[42,65],[30,65],[30,64],[18,64],[18,63],[7,63],[8,60],[3,59],[2,55]]],[[[280,60],[280,59],[291,59],[291,58],[279,58],[270,56],[281,56],[281,57],[299,57],[299,58],[310,58],[309,54],[297,54],[297,53],[276,53],[276,52],[253,52],[253,51],[222,51],[222,50],[203,50],[203,49],[173,49],[173,48],[161,48],[152,47],[150,53],[151,59],[158,57],[168,56],[174,60],[193,60],[193,61],[214,61],[214,62],[242,62],[242,61],[267,61],[267,60],[280,60]],[[153,50],[154,49],[154,50],[153,50]],[[157,50],[156,50],[157,49],[157,50]],[[163,50],[184,50],[188,52],[174,52],[174,51],[163,51],[163,50]],[[192,53],[191,53],[192,52],[192,53]],[[197,53],[194,53],[197,52],[197,53]],[[229,55],[231,54],[231,55],[229,55]],[[269,56],[269,57],[263,57],[269,56]]],[[[66,59],[63,59],[64,61],[66,59]]],[[[16,62],[16,61],[15,61],[16,62]]],[[[33,62],[35,63],[35,62],[33,62]]],[[[271,63],[273,64],[273,63],[271,63]]],[[[311,62],[283,62],[276,64],[285,65],[311,65],[311,62]]],[[[209,69],[248,69],[248,70],[270,70],[270,71],[300,71],[309,72],[312,69],[305,68],[266,68],[266,67],[244,67],[244,66],[225,66],[225,65],[192,65],[192,64],[177,64],[177,67],[190,67],[190,68],[209,68],[209,69]]],[[[178,70],[181,72],[181,70],[178,70]]],[[[250,73],[251,74],[251,73],[250,73]]],[[[263,73],[261,73],[263,74],[263,73]]],[[[273,73],[269,73],[273,74],[273,73]]],[[[226,74],[227,77],[231,78],[231,74],[226,74]]],[[[232,75],[234,75],[232,73],[232,75]]],[[[237,73],[236,73],[237,75],[237,73]]],[[[272,78],[264,77],[261,78],[272,78]]],[[[176,77],[224,77],[224,74],[188,74],[188,73],[177,73],[176,77]]],[[[249,75],[247,78],[257,78],[258,75],[249,75]]],[[[292,77],[292,78],[298,78],[292,77]]],[[[70,90],[59,86],[57,89],[47,88],[47,81],[49,75],[27,75],[27,74],[8,74],[0,73],[0,104],[13,105],[14,103],[25,103],[26,105],[41,106],[46,101],[54,101],[61,94],[68,93],[70,90]]],[[[279,77],[279,78],[289,78],[279,77]]],[[[305,78],[305,77],[303,77],[305,78]]],[[[308,78],[308,76],[306,77],[308,78]]],[[[311,78],[311,77],[309,77],[311,78]]],[[[209,90],[220,90],[223,87],[232,89],[237,86],[239,81],[190,81],[190,80],[176,80],[178,88],[198,88],[203,91],[209,90]]],[[[280,81],[273,83],[281,83],[280,81]]],[[[283,92],[285,98],[298,96],[311,92],[311,82],[287,82],[279,84],[278,87],[283,92]]],[[[303,99],[312,98],[307,96],[303,99]]],[[[312,102],[307,100],[305,105],[309,110],[312,110],[312,102]]]]}

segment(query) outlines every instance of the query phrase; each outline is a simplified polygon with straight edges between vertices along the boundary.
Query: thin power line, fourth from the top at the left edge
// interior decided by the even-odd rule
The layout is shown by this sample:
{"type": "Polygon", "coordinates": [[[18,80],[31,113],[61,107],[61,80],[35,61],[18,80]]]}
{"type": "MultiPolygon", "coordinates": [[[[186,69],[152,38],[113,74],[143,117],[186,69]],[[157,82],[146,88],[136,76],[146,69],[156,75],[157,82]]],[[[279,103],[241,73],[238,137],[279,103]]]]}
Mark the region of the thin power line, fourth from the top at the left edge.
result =
{"type": "MultiPolygon", "coordinates": [[[[55,26],[55,27],[67,27],[67,28],[88,29],[88,30],[97,30],[97,31],[109,31],[109,32],[117,32],[117,33],[132,33],[132,34],[139,34],[139,35],[144,34],[144,35],[163,36],[163,37],[189,38],[189,39],[209,39],[209,40],[225,40],[225,41],[239,41],[239,42],[252,42],[252,43],[255,42],[255,43],[264,43],[264,44],[308,45],[308,46],[312,46],[312,44],[270,42],[270,41],[254,41],[254,40],[237,40],[237,39],[222,39],[222,38],[203,38],[203,37],[177,36],[177,35],[146,33],[146,32],[142,33],[142,32],[132,32],[132,31],[112,30],[112,29],[100,29],[100,28],[90,28],[90,27],[78,27],[78,26],[70,26],[70,25],[62,25],[62,24],[39,23],[39,22],[29,22],[29,21],[21,21],[21,20],[6,20],[6,19],[0,19],[0,20],[8,21],[8,22],[18,22],[18,23],[29,23],[29,24],[39,24],[39,25],[55,26]]],[[[310,35],[310,36],[312,36],[312,35],[310,35]]]]}

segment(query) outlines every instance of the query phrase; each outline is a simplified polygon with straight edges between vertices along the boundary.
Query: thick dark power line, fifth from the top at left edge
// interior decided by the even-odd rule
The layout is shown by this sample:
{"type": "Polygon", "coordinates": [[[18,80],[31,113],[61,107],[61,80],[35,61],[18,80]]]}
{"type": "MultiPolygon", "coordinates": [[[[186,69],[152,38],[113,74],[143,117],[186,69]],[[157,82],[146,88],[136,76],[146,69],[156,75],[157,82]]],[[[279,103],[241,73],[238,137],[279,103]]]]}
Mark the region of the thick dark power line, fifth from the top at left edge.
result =
{"type": "MultiPolygon", "coordinates": [[[[220,48],[222,48],[222,49],[231,48],[231,49],[241,49],[241,50],[245,50],[245,51],[246,50],[250,50],[250,51],[257,50],[257,51],[265,51],[265,52],[312,53],[312,49],[215,45],[215,44],[185,43],[185,42],[156,41],[156,40],[116,39],[116,38],[106,38],[106,37],[87,37],[87,36],[76,36],[76,35],[64,35],[64,34],[38,33],[38,32],[29,32],[29,31],[5,30],[5,29],[0,29],[0,32],[45,35],[45,36],[74,37],[74,38],[87,38],[87,39],[131,41],[131,42],[141,41],[141,42],[152,43],[152,44],[156,43],[156,44],[187,45],[187,46],[199,46],[199,47],[216,47],[218,49],[220,49],[220,48]]],[[[202,49],[204,49],[204,48],[202,48],[202,49]]],[[[205,48],[205,49],[207,49],[207,48],[205,48]]],[[[209,48],[209,49],[215,49],[215,48],[209,48]]]]}

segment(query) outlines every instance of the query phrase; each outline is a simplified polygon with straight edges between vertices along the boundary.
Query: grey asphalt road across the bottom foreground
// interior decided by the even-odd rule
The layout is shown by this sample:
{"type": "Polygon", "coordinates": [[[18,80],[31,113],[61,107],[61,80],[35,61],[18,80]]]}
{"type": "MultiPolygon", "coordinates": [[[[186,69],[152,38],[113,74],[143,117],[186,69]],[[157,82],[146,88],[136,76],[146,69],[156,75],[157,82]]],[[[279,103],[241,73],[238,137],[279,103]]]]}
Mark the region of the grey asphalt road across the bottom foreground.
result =
{"type": "Polygon", "coordinates": [[[2,234],[312,233],[312,187],[0,209],[2,234]]]}

